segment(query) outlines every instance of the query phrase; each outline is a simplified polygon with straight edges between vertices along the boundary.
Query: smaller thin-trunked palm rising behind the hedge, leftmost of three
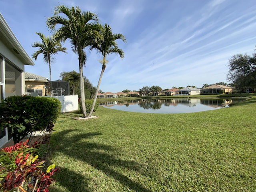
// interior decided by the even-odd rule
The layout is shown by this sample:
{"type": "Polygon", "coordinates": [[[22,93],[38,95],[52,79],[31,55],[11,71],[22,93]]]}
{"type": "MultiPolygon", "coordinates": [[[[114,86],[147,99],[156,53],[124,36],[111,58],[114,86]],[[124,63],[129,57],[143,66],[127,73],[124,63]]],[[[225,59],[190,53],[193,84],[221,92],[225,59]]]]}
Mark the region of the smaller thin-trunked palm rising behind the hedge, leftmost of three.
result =
{"type": "Polygon", "coordinates": [[[49,64],[50,70],[50,94],[52,96],[52,74],[51,74],[51,62],[53,61],[52,55],[58,52],[67,53],[67,48],[62,47],[59,41],[52,39],[49,36],[44,36],[41,32],[36,32],[42,40],[42,42],[34,42],[32,47],[39,48],[36,52],[32,54],[32,58],[37,59],[39,54],[43,54],[44,61],[49,64]]]}

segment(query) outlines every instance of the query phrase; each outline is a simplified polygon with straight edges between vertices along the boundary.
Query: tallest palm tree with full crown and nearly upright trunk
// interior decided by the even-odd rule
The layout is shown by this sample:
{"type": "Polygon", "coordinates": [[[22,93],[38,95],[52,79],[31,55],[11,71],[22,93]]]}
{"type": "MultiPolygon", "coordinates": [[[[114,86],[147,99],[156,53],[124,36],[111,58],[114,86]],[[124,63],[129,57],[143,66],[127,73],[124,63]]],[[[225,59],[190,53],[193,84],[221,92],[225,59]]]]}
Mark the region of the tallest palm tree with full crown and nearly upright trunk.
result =
{"type": "Polygon", "coordinates": [[[81,12],[79,7],[57,6],[54,9],[54,16],[47,19],[47,26],[54,31],[54,37],[65,42],[70,40],[72,51],[78,54],[79,75],[80,75],[80,95],[83,117],[86,117],[85,94],[84,94],[84,76],[83,66],[86,62],[86,53],[84,49],[92,45],[99,37],[98,17],[91,12],[81,12]],[[64,14],[65,17],[60,14],[64,14]],[[60,24],[60,28],[55,30],[55,26],[60,24]]]}

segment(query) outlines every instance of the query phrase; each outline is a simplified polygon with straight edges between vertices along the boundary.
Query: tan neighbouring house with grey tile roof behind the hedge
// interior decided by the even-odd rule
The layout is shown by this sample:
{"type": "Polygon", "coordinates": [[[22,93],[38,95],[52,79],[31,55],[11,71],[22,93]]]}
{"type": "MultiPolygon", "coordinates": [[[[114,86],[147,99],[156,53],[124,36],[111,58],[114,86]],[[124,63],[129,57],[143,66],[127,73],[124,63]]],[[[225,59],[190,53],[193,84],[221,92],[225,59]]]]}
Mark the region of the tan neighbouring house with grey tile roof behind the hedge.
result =
{"type": "MultiPolygon", "coordinates": [[[[25,72],[25,88],[26,94],[32,96],[47,96],[50,95],[47,87],[48,78],[36,74],[25,72]]],[[[49,85],[48,85],[49,86],[49,85]]]]}

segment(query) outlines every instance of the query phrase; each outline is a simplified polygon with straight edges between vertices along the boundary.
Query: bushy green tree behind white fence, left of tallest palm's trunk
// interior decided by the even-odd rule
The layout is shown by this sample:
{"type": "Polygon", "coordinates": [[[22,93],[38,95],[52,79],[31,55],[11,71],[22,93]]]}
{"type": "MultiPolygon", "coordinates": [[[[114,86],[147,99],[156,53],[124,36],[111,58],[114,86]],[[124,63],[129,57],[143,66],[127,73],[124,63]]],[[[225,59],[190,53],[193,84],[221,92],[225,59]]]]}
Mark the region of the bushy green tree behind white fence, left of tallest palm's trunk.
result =
{"type": "Polygon", "coordinates": [[[70,85],[70,91],[73,92],[73,95],[75,95],[75,90],[79,87],[79,73],[73,71],[70,72],[61,72],[60,77],[63,81],[68,81],[70,85]]]}

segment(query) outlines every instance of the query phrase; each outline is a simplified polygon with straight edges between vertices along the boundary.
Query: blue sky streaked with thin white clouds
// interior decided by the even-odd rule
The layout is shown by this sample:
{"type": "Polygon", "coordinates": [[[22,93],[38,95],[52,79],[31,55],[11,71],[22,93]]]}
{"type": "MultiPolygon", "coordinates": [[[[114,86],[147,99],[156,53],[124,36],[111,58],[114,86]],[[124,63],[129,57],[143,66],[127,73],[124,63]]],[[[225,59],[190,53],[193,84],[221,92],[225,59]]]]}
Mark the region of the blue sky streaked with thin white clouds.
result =
{"type": "MultiPolygon", "coordinates": [[[[94,12],[100,23],[109,24],[127,43],[118,41],[124,59],[110,55],[102,77],[103,92],[138,90],[143,86],[201,88],[203,84],[227,82],[228,60],[235,54],[255,53],[255,0],[0,0],[0,12],[29,56],[36,51],[35,32],[50,35],[46,18],[55,6],[79,6],[94,12]]],[[[78,56],[58,54],[52,80],[61,72],[79,72],[78,56]]],[[[97,86],[101,59],[86,50],[84,76],[97,86]]],[[[25,71],[49,78],[42,56],[25,71]]]]}

